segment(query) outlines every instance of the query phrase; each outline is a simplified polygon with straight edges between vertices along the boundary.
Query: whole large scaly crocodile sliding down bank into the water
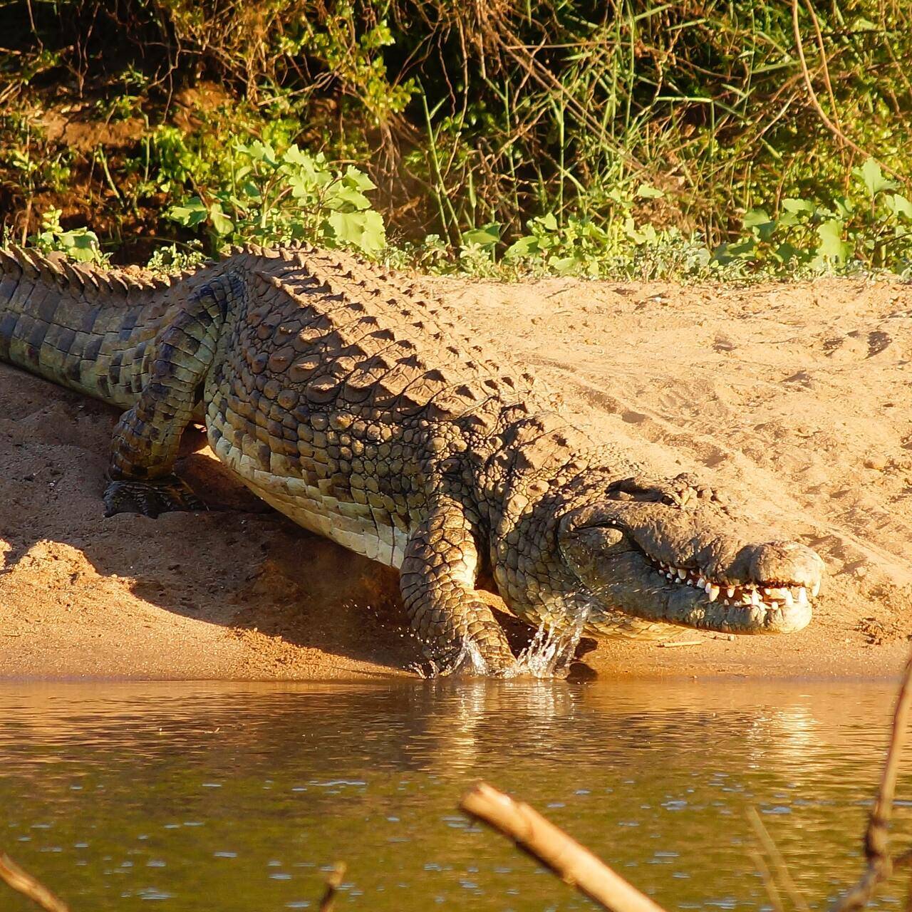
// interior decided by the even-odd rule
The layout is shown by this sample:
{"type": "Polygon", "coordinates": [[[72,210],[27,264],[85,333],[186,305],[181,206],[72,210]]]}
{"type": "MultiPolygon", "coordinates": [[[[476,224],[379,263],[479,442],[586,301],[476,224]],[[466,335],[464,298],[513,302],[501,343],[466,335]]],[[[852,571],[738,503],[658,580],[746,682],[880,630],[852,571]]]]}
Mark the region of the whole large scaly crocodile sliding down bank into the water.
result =
{"type": "Polygon", "coordinates": [[[475,344],[409,275],[306,244],[233,248],[150,278],[0,250],[0,360],[123,409],[106,514],[198,510],[182,431],[295,523],[399,569],[440,673],[512,673],[480,575],[532,625],[788,633],[809,547],[663,478],[475,344]]]}

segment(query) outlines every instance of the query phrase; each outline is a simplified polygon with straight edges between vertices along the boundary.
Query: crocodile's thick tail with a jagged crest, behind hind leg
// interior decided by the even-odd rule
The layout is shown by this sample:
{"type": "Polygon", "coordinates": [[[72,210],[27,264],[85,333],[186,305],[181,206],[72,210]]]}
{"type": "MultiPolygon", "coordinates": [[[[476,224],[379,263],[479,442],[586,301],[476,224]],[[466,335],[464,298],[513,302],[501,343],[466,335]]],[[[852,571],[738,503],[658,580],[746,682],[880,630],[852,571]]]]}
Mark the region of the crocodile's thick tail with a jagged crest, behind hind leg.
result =
{"type": "Polygon", "coordinates": [[[128,409],[173,285],[0,248],[0,361],[128,409]]]}

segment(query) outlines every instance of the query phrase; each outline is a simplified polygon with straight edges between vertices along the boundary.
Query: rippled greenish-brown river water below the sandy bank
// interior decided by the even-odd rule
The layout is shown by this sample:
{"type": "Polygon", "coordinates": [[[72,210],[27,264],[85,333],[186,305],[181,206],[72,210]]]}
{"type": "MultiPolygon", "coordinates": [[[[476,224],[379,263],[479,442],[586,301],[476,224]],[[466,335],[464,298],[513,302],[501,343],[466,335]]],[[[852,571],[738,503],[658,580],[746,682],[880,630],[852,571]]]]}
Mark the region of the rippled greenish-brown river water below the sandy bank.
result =
{"type": "MultiPolygon", "coordinates": [[[[821,908],[860,871],[893,694],[731,679],[2,684],[0,850],[74,912],[316,909],[337,860],[340,910],[592,908],[459,814],[483,778],[669,910],[769,908],[749,856],[756,807],[821,908]]],[[[896,882],[879,905],[903,897],[896,882]]],[[[0,885],[3,912],[33,908],[0,885]]]]}

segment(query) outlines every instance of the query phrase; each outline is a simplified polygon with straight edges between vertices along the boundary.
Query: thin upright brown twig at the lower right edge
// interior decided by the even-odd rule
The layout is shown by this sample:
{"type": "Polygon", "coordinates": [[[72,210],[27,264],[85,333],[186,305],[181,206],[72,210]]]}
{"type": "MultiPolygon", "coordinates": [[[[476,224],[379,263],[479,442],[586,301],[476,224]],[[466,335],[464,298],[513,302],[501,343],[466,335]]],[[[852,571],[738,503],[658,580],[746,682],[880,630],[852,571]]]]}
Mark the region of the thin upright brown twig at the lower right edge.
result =
{"type": "Polygon", "coordinates": [[[899,755],[906,741],[910,702],[912,702],[912,658],[909,658],[906,663],[903,682],[896,696],[893,728],[890,731],[890,743],[886,749],[884,772],[881,773],[874,807],[871,808],[871,816],[868,818],[865,833],[865,858],[867,859],[865,873],[845,896],[834,902],[830,907],[830,912],[852,912],[852,910],[864,907],[874,896],[877,886],[885,881],[893,870],[893,860],[888,851],[888,824],[890,816],[893,814],[896,772],[899,767],[899,755]]]}

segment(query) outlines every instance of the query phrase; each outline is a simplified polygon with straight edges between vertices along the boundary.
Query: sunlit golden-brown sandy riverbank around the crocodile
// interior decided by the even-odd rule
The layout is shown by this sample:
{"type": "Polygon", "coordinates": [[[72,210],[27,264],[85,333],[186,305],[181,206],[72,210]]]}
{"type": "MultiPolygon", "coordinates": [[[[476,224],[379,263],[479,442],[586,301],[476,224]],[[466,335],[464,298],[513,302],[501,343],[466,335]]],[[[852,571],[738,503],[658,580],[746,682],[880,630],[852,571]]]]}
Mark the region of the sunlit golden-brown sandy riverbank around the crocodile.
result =
{"type": "MultiPolygon", "coordinates": [[[[826,563],[801,633],[586,642],[576,677],[901,667],[912,638],[908,285],[431,284],[581,423],[659,472],[700,474],[826,563]]],[[[178,471],[208,513],[105,519],[115,420],[0,365],[0,678],[414,673],[395,572],[259,502],[198,431],[185,435],[178,471]]]]}

